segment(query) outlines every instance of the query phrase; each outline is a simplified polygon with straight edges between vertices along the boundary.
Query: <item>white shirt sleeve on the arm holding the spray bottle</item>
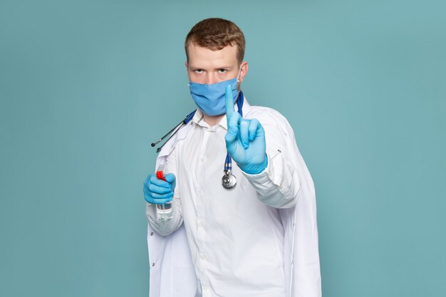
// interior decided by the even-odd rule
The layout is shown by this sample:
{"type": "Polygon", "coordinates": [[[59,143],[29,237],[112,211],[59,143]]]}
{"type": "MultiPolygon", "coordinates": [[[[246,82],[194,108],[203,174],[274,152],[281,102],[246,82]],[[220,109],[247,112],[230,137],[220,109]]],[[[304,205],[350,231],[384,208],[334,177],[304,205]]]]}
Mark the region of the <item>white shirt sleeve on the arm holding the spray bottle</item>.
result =
{"type": "MultiPolygon", "coordinates": [[[[176,150],[173,150],[166,160],[166,173],[172,173],[177,177],[177,162],[176,162],[176,150]]],[[[145,215],[152,229],[154,229],[161,236],[167,236],[173,231],[177,230],[182,224],[182,207],[180,201],[180,193],[178,191],[178,179],[177,186],[174,189],[172,198],[172,219],[167,222],[159,222],[157,220],[156,204],[146,204],[145,215]]]]}

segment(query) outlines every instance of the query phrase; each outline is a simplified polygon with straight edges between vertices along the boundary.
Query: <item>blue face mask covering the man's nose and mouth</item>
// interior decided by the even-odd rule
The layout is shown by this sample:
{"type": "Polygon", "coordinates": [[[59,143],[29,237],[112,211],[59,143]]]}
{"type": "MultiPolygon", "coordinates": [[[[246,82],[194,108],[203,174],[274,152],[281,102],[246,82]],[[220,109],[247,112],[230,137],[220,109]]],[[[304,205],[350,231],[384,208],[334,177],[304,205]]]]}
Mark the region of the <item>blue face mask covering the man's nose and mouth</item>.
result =
{"type": "Polygon", "coordinates": [[[237,97],[239,97],[239,91],[237,90],[238,78],[239,75],[237,75],[237,78],[224,80],[221,83],[212,83],[211,85],[190,82],[190,94],[195,104],[197,104],[204,114],[212,116],[223,115],[226,112],[224,107],[224,93],[227,85],[232,85],[234,103],[237,97]]]}

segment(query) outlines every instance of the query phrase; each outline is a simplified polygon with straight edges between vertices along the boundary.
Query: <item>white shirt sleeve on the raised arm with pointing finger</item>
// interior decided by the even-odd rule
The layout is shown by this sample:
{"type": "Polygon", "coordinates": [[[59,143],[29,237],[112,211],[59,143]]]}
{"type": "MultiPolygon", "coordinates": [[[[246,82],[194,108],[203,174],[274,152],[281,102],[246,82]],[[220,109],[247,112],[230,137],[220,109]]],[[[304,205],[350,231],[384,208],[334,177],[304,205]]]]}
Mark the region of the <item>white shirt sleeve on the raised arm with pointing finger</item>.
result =
{"type": "Polygon", "coordinates": [[[259,174],[242,172],[256,189],[261,202],[275,208],[294,207],[301,189],[299,164],[292,162],[296,158],[290,156],[299,153],[294,132],[283,116],[259,121],[265,130],[268,165],[259,174]]]}

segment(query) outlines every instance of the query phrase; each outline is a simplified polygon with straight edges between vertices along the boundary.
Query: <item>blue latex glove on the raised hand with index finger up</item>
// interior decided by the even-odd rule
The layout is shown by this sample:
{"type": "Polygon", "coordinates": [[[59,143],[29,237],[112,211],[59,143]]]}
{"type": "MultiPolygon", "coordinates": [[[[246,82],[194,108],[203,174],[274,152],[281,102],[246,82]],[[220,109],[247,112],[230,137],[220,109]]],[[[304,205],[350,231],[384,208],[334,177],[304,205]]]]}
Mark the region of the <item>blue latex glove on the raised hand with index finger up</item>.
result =
{"type": "Polygon", "coordinates": [[[244,120],[234,111],[231,85],[226,88],[225,100],[228,132],[224,140],[229,155],[244,172],[259,174],[268,165],[265,130],[259,120],[244,120]]]}

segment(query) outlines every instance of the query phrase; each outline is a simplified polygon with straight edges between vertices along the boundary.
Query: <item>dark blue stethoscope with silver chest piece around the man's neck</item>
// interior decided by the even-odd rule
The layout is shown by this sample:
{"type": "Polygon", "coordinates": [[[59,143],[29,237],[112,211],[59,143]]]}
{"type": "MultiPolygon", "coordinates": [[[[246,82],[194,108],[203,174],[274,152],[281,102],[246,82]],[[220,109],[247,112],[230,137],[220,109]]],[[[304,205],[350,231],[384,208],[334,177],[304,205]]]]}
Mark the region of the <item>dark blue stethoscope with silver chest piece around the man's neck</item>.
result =
{"type": "MultiPolygon", "coordinates": [[[[243,117],[243,112],[242,112],[243,101],[244,101],[243,92],[240,91],[239,98],[237,98],[237,108],[239,108],[239,114],[242,117],[243,117]]],[[[162,147],[164,147],[164,145],[170,140],[170,138],[173,135],[175,135],[176,132],[178,132],[178,130],[180,130],[180,128],[182,126],[187,125],[187,123],[189,123],[190,120],[192,120],[192,118],[194,118],[194,115],[195,115],[196,111],[197,110],[192,111],[192,113],[187,115],[184,120],[182,120],[180,123],[178,123],[178,125],[173,127],[172,130],[167,132],[159,140],[157,140],[155,142],[152,142],[152,147],[155,147],[155,145],[157,145],[158,143],[162,142],[162,140],[164,140],[165,137],[170,135],[169,138],[167,138],[166,142],[164,142],[164,144],[162,144],[160,147],[157,148],[157,153],[160,152],[162,147]]],[[[222,186],[224,187],[224,189],[232,189],[237,184],[237,178],[235,177],[234,174],[232,174],[232,157],[231,157],[231,155],[229,155],[229,152],[226,153],[226,160],[224,160],[224,170],[223,170],[223,172],[224,172],[224,175],[222,177],[222,186]]]]}

